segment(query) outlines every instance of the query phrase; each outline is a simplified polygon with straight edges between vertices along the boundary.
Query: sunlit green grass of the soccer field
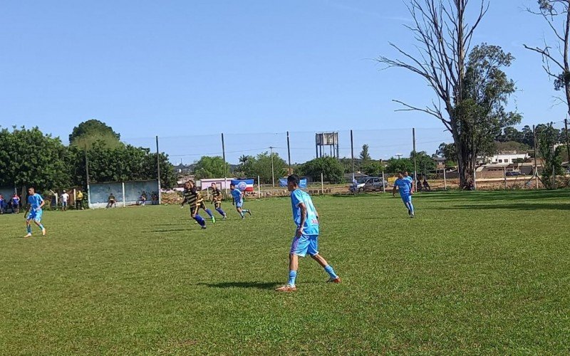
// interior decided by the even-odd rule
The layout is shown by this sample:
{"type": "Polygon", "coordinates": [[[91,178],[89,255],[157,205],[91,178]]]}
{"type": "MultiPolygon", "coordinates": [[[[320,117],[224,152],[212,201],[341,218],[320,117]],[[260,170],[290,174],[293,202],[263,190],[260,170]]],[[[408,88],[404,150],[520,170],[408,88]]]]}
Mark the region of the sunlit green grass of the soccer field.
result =
{"type": "Polygon", "coordinates": [[[568,354],[570,191],[314,197],[330,285],[286,281],[289,199],[0,216],[0,354],[568,354]]]}

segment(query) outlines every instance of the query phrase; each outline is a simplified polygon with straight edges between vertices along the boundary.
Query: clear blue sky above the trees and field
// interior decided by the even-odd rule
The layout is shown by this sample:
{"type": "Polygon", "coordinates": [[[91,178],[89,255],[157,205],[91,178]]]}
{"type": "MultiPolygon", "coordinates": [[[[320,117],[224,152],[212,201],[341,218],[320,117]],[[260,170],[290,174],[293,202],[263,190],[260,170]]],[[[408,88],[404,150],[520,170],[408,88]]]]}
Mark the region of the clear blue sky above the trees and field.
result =
{"type": "MultiPolygon", "coordinates": [[[[523,124],[564,119],[540,58],[522,48],[546,32],[523,11],[536,1],[491,3],[475,42],[517,58],[507,72],[523,124]]],[[[164,137],[184,162],[220,151],[219,138],[167,137],[249,133],[230,142],[230,161],[239,150],[285,145],[282,135],[273,143],[252,132],[307,132],[294,140],[294,161],[314,155],[316,131],[361,130],[357,145],[369,143],[375,158],[400,151],[374,141],[400,132],[387,128],[405,128],[405,137],[410,127],[431,129],[418,138],[431,152],[447,137],[432,117],[394,112],[392,99],[429,103],[425,83],[370,59],[393,55],[388,41],[413,45],[403,1],[4,1],[1,10],[2,127],[37,125],[67,143],[74,126],[96,118],[138,145],[164,137]]],[[[347,140],[341,155],[350,155],[347,140]]],[[[408,154],[410,140],[398,140],[408,154]]]]}

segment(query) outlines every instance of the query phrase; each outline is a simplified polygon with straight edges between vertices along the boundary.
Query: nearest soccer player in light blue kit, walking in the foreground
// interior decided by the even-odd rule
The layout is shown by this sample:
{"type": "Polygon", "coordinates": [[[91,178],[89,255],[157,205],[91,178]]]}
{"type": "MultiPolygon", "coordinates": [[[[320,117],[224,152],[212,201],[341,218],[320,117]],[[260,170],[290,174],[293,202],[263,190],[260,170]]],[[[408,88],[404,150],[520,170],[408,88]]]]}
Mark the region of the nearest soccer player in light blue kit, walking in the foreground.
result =
{"type": "Polygon", "coordinates": [[[287,177],[287,189],[291,192],[291,207],[293,221],[297,226],[291,251],[289,252],[289,281],[285,286],[277,288],[278,292],[294,292],[297,290],[295,280],[299,268],[299,256],[307,253],[318,262],[328,273],[328,282],[341,283],[341,278],[334,273],[328,262],[318,254],[318,213],[313,205],[311,196],[299,189],[301,179],[297,174],[287,177]]]}

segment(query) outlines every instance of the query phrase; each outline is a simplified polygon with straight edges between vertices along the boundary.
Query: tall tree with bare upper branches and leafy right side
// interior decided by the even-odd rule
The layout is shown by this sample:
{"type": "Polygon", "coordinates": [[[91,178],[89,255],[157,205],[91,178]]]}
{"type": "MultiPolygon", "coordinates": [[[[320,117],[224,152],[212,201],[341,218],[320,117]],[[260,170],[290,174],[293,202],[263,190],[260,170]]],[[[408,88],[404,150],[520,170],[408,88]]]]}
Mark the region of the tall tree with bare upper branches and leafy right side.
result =
{"type": "Polygon", "coordinates": [[[418,53],[393,45],[400,58],[378,58],[388,68],[415,73],[432,88],[437,97],[431,100],[432,105],[418,108],[397,102],[404,110],[436,117],[451,132],[462,189],[469,189],[477,156],[492,150],[499,128],[520,121],[519,114],[504,109],[515,87],[502,68],[510,66],[513,57],[487,44],[470,51],[475,30],[487,12],[484,0],[477,3],[480,7],[472,11],[469,0],[410,0],[413,21],[408,29],[418,53]],[[469,21],[467,16],[472,15],[469,21]]]}

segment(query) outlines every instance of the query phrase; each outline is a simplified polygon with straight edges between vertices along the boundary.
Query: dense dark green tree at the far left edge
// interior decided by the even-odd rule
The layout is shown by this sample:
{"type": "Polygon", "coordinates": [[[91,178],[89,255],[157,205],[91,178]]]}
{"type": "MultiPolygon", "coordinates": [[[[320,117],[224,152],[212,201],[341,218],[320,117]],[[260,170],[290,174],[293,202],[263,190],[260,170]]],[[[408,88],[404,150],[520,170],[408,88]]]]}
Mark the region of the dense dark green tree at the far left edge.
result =
{"type": "Polygon", "coordinates": [[[36,187],[39,192],[70,183],[63,157],[66,147],[58,137],[44,135],[38,127],[0,131],[0,185],[36,187]]]}

